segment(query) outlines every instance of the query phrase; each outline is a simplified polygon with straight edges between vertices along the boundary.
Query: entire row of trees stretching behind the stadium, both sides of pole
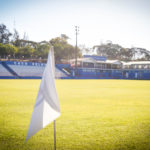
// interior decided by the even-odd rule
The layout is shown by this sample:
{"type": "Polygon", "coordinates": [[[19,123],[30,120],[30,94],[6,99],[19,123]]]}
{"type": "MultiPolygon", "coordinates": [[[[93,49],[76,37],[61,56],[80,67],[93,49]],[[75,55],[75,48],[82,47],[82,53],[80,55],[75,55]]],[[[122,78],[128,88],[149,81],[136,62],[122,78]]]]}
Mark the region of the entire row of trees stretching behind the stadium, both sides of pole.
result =
{"type": "MultiPolygon", "coordinates": [[[[61,34],[60,37],[52,38],[49,41],[35,42],[28,40],[26,34],[23,38],[14,29],[11,33],[6,25],[0,24],[0,58],[28,59],[30,61],[45,61],[50,49],[54,47],[55,62],[62,63],[64,60],[75,58],[76,48],[68,43],[69,37],[61,34]]],[[[150,60],[150,52],[143,48],[124,48],[111,41],[106,44],[96,45],[97,55],[106,56],[108,59],[122,61],[150,60]]],[[[77,57],[81,57],[81,50],[90,53],[91,49],[85,46],[77,48],[77,57]]]]}

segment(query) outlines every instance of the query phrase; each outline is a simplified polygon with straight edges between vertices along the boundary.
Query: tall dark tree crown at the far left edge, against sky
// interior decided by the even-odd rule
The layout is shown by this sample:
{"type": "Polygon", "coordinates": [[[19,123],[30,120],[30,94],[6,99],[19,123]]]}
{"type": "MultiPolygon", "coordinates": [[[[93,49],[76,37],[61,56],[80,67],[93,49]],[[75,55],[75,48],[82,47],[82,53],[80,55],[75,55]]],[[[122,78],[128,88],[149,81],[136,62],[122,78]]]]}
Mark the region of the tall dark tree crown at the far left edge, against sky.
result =
{"type": "Polygon", "coordinates": [[[0,24],[0,43],[7,44],[9,43],[9,38],[12,34],[6,28],[4,24],[0,24]]]}

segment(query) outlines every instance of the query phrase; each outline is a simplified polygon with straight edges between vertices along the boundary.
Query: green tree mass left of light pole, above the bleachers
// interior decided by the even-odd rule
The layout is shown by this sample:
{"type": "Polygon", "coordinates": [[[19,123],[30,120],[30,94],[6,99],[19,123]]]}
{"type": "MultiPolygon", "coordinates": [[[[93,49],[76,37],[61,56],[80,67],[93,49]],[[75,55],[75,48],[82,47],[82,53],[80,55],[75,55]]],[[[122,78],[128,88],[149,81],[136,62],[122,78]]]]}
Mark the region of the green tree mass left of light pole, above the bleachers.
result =
{"type": "MultiPolygon", "coordinates": [[[[68,43],[69,37],[61,34],[48,41],[34,42],[27,40],[24,35],[20,37],[19,32],[14,29],[14,33],[10,33],[7,27],[0,24],[0,56],[1,58],[17,58],[17,59],[47,59],[50,46],[54,47],[56,63],[61,63],[63,59],[74,58],[75,47],[68,43]],[[11,37],[11,40],[10,40],[11,37]]],[[[81,56],[80,49],[77,49],[78,56],[81,56]]]]}

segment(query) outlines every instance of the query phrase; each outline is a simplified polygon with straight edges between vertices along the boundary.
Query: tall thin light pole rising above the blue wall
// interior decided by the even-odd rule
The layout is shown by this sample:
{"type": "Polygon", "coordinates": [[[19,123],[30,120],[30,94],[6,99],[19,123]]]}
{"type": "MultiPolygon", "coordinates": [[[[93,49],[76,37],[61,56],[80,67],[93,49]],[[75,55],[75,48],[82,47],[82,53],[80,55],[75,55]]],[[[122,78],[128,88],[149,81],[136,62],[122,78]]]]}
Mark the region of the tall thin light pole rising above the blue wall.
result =
{"type": "Polygon", "coordinates": [[[78,34],[79,34],[79,27],[75,26],[75,32],[76,32],[76,48],[75,48],[75,76],[77,76],[77,65],[78,65],[78,34]]]}

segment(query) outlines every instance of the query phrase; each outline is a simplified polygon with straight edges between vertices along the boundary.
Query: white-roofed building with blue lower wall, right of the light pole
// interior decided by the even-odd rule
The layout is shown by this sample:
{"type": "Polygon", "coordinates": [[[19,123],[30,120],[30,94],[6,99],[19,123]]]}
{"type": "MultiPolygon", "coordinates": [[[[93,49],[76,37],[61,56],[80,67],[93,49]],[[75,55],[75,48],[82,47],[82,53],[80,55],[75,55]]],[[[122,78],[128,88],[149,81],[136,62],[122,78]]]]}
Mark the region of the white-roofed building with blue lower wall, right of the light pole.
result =
{"type": "Polygon", "coordinates": [[[102,56],[86,55],[71,61],[71,75],[75,79],[136,79],[150,80],[150,61],[121,62],[102,56]]]}

